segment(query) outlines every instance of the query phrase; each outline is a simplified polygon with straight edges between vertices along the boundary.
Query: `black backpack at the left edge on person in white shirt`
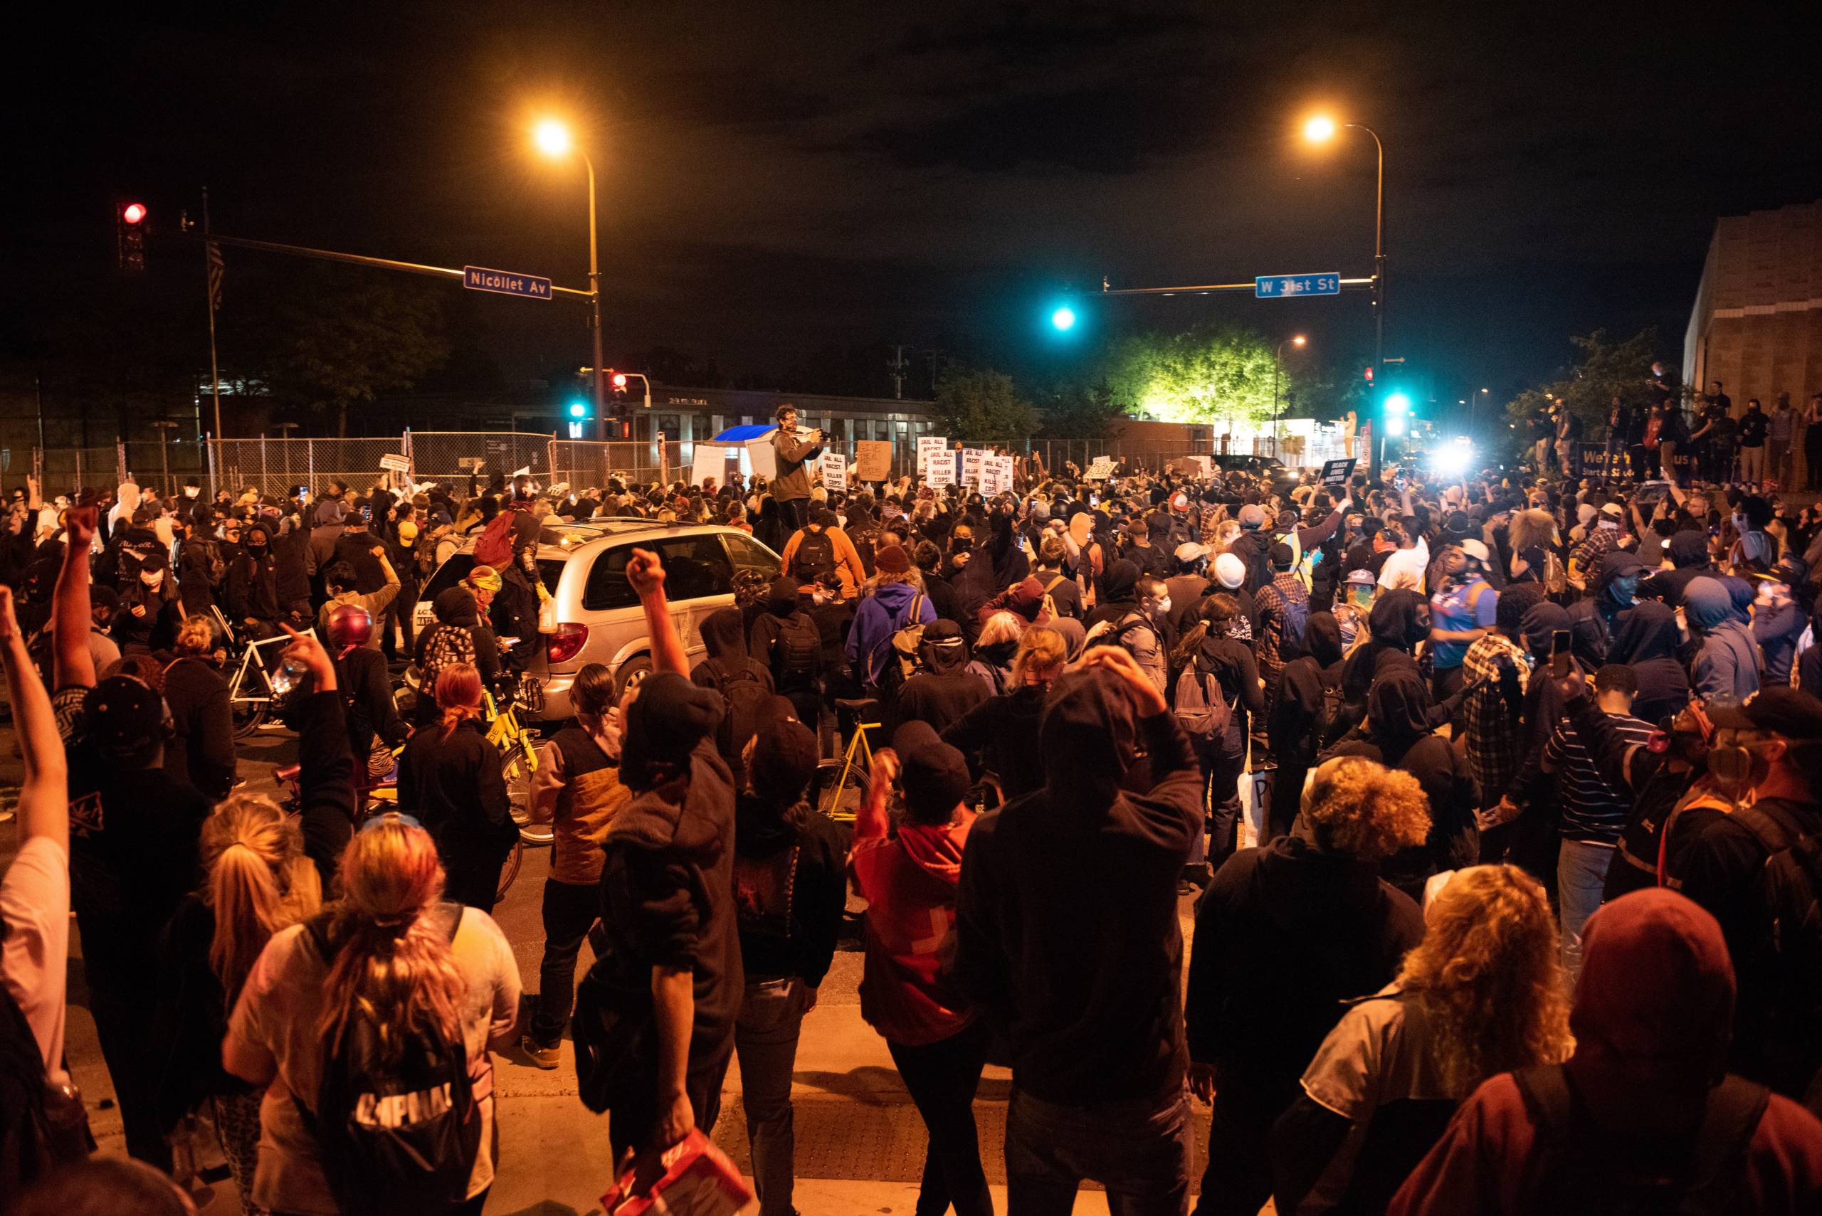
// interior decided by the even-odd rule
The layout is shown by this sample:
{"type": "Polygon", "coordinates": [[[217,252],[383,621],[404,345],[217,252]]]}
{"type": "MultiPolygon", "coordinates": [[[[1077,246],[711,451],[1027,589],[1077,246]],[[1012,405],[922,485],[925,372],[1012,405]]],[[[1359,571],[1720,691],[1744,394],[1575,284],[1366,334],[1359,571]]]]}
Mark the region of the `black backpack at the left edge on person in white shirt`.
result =
{"type": "Polygon", "coordinates": [[[75,1087],[51,1089],[38,1038],[0,985],[0,1207],[66,1161],[95,1152],[75,1087]]]}

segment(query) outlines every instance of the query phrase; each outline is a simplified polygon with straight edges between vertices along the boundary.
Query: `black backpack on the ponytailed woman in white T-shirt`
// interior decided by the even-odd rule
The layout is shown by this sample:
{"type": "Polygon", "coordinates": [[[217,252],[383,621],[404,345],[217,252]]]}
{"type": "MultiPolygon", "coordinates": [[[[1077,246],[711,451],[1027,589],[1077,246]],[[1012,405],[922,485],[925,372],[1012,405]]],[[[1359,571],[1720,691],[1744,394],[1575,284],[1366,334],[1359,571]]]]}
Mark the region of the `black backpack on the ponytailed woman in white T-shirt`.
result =
{"type": "MultiPolygon", "coordinates": [[[[333,916],[304,923],[324,967],[333,967],[341,950],[330,936],[333,916]]],[[[428,916],[456,939],[461,905],[443,903],[428,916]]],[[[317,1109],[297,1101],[297,1112],[317,1141],[343,1216],[428,1216],[468,1194],[481,1152],[481,1110],[461,1036],[450,1043],[414,1032],[388,1059],[372,1023],[353,1019],[339,1052],[324,1045],[317,1109]]]]}

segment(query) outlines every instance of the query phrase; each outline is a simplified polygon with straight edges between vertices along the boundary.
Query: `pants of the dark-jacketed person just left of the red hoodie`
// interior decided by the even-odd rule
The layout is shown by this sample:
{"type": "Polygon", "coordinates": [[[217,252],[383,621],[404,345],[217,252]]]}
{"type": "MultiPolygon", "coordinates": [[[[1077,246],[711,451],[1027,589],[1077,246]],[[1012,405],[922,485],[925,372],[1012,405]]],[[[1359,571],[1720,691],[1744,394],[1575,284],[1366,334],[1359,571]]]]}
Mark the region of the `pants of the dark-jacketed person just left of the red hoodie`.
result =
{"type": "Polygon", "coordinates": [[[740,1105],[747,1112],[752,1145],[752,1189],[760,1216],[791,1216],[796,1129],[791,1112],[791,1074],[804,1027],[809,985],[796,976],[747,985],[734,1023],[740,1058],[740,1105]]]}

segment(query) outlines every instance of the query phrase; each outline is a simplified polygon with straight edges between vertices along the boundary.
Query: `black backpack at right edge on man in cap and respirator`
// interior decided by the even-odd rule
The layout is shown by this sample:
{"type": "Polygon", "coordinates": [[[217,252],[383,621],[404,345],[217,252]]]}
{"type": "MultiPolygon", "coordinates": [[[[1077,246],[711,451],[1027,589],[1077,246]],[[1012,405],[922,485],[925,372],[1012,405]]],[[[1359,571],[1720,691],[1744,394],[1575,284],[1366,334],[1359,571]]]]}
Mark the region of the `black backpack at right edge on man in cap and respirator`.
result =
{"type": "Polygon", "coordinates": [[[1775,814],[1780,803],[1760,799],[1733,812],[1767,854],[1756,883],[1758,950],[1740,965],[1767,985],[1760,1050],[1802,1096],[1822,1078],[1822,834],[1775,814]]]}

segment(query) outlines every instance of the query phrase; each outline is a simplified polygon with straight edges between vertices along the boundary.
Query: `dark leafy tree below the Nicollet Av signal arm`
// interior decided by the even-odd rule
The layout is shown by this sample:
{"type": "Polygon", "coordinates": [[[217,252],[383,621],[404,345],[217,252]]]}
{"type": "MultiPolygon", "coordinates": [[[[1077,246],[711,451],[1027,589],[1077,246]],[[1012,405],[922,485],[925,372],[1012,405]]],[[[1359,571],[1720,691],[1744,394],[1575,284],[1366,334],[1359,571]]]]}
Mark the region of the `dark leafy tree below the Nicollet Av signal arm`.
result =
{"type": "Polygon", "coordinates": [[[348,433],[348,408],[377,393],[412,388],[450,355],[443,297],[399,279],[312,275],[313,289],[281,306],[270,384],[277,397],[335,411],[348,433]]]}

